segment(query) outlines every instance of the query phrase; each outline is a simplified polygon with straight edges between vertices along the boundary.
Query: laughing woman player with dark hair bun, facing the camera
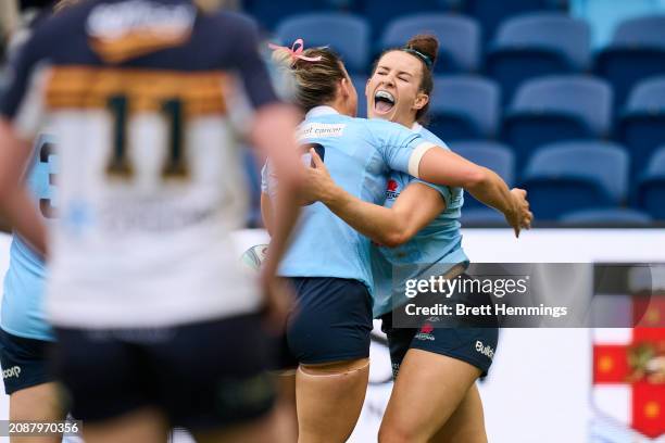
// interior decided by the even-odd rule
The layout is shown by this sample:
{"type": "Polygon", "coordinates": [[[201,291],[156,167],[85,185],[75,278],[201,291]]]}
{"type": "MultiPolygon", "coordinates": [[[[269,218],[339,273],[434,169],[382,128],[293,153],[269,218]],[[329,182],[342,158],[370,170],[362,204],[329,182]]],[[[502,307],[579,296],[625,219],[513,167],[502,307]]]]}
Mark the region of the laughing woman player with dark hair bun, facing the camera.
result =
{"type": "MultiPolygon", "coordinates": [[[[416,36],[404,48],[386,51],[367,83],[367,112],[371,117],[410,127],[448,149],[418,124],[424,119],[432,90],[431,67],[437,49],[435,37],[416,36]]],[[[460,233],[462,189],[432,185],[394,172],[381,207],[352,195],[343,183],[336,185],[316,153],[313,162],[316,168],[311,169],[311,197],[324,202],[359,232],[382,244],[373,256],[374,315],[382,319],[382,329],[388,336],[396,384],[379,441],[487,442],[482,404],[474,382],[491,365],[498,329],[493,324],[456,329],[434,328],[426,322],[419,325],[423,329],[393,325],[393,316],[399,321],[409,300],[406,280],[438,276],[469,279],[463,274],[468,258],[460,233]]],[[[487,199],[488,194],[478,193],[474,188],[468,190],[480,201],[494,205],[487,199]]],[[[525,195],[519,189],[511,191],[519,208],[517,224],[512,219],[510,205],[494,205],[504,212],[516,233],[523,227],[528,228],[532,218],[525,195]]],[[[459,299],[462,295],[453,294],[459,299]]],[[[475,293],[463,300],[470,300],[468,295],[487,298],[475,293]]]]}

